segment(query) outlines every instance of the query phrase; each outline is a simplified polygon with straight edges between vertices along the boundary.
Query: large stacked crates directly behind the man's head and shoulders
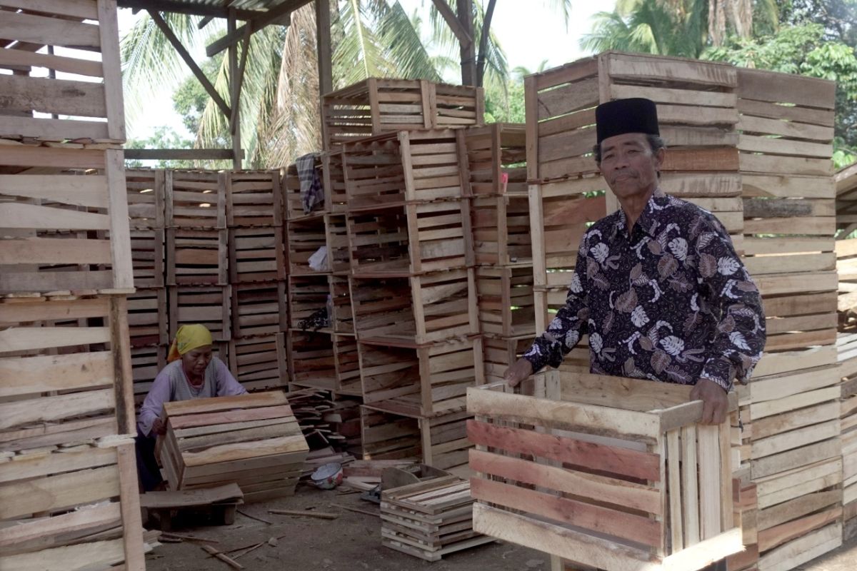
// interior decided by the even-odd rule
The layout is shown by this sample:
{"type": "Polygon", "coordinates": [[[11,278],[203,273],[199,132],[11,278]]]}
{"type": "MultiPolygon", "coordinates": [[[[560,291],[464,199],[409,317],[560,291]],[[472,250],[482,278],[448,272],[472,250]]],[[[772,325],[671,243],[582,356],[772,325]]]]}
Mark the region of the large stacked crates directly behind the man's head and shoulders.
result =
{"type": "MultiPolygon", "coordinates": [[[[736,81],[727,64],[616,52],[526,78],[537,332],[566,300],[588,224],[618,207],[591,155],[598,104],[632,97],[655,101],[669,149],[662,189],[715,212],[740,240],[736,81]]],[[[585,371],[588,366],[581,342],[564,367],[585,371]]]]}

